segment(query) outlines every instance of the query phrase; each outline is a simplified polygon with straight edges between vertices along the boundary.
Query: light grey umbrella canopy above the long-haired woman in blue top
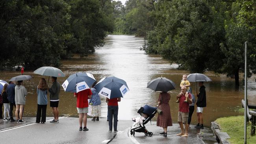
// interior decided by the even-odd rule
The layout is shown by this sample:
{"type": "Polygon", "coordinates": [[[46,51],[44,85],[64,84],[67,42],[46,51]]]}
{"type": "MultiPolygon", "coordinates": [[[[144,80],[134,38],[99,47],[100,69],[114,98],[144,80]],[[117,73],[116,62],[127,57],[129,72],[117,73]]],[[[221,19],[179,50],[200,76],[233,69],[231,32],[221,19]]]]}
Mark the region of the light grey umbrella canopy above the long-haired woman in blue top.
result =
{"type": "Polygon", "coordinates": [[[41,68],[37,68],[34,71],[34,74],[40,74],[42,76],[54,76],[54,77],[65,77],[65,74],[59,69],[52,66],[43,66],[41,68]]]}

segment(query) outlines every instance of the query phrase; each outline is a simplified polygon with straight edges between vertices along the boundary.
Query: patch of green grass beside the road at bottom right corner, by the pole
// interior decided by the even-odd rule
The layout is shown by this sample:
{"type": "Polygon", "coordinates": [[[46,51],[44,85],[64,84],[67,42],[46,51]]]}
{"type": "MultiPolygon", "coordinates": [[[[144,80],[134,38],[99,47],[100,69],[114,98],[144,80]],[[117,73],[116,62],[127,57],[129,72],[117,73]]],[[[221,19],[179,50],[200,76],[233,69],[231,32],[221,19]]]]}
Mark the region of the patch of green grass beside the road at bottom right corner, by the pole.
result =
{"type": "MultiPolygon", "coordinates": [[[[231,144],[244,143],[244,117],[243,116],[230,116],[218,118],[216,122],[219,124],[222,132],[228,133],[231,144]]],[[[247,144],[255,144],[256,136],[250,135],[251,123],[247,123],[247,144]]]]}

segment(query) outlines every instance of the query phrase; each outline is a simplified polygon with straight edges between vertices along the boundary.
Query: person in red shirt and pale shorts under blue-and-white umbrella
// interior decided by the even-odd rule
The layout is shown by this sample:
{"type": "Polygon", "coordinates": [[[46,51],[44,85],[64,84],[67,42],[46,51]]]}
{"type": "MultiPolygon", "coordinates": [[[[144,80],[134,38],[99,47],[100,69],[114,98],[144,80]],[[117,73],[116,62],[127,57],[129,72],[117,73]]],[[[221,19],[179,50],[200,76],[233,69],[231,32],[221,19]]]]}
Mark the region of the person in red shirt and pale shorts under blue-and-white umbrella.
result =
{"type": "Polygon", "coordinates": [[[87,124],[87,113],[88,113],[88,99],[91,98],[91,89],[85,89],[78,93],[74,93],[74,97],[77,98],[76,101],[76,109],[79,113],[79,131],[88,131],[89,129],[86,127],[87,124]],[[83,123],[83,129],[82,129],[83,123]]]}

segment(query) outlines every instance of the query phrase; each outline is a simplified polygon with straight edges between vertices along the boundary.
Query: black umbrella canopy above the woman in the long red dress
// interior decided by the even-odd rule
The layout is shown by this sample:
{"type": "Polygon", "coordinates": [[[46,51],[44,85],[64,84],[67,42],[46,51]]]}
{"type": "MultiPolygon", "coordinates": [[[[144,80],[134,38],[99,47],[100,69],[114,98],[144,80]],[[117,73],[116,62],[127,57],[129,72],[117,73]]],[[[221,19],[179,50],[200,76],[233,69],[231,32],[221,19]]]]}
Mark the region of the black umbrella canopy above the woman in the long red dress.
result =
{"type": "Polygon", "coordinates": [[[147,88],[154,91],[168,92],[175,89],[175,83],[167,78],[155,78],[148,82],[147,88]]]}

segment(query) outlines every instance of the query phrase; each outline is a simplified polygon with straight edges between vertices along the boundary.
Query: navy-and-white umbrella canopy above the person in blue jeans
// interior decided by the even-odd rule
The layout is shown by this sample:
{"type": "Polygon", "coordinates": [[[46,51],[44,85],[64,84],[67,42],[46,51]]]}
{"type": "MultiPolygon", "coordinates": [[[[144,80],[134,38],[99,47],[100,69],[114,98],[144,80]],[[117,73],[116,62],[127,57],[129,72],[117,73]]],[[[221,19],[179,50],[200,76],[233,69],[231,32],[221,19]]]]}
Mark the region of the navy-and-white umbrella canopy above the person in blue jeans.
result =
{"type": "Polygon", "coordinates": [[[100,81],[95,85],[95,89],[98,90],[98,94],[109,99],[123,97],[128,91],[130,91],[124,80],[114,76],[100,79],[100,81]]]}

